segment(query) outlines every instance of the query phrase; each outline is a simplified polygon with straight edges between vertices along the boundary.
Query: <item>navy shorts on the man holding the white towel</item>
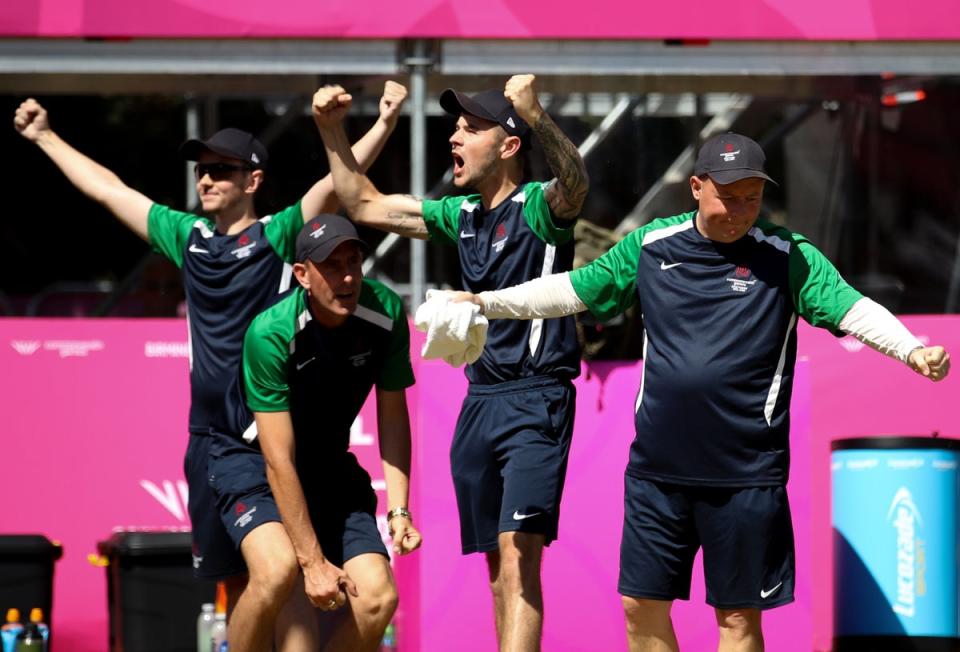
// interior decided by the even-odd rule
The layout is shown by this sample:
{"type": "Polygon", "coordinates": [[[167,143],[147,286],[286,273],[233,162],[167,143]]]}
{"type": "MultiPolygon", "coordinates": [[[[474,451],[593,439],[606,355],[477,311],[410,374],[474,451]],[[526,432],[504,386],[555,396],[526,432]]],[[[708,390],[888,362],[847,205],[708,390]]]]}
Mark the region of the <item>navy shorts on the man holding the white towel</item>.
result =
{"type": "Polygon", "coordinates": [[[793,602],[793,525],[784,487],[690,487],[626,476],[622,595],[690,599],[701,547],[708,604],[770,609],[793,602]]]}

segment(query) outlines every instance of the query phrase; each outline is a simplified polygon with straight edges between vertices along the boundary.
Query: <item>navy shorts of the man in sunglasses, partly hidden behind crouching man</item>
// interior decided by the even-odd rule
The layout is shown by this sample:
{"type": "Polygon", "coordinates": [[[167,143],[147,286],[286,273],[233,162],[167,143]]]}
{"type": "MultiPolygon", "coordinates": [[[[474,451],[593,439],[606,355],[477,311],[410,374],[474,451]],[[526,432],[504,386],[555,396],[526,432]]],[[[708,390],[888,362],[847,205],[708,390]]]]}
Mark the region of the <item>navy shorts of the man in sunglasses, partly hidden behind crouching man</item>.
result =
{"type": "Polygon", "coordinates": [[[210,487],[207,463],[211,437],[190,433],[183,473],[189,495],[187,511],[193,532],[193,574],[201,579],[221,580],[247,572],[230,535],[220,521],[220,510],[210,487]]]}

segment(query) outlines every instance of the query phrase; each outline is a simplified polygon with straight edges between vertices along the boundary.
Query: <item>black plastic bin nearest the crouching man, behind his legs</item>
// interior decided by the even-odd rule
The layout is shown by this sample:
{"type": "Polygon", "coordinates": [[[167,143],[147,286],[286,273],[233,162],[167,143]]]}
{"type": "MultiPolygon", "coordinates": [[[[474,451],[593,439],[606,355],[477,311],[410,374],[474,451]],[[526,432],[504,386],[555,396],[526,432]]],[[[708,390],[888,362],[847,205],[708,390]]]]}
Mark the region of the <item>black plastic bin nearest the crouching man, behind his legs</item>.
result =
{"type": "Polygon", "coordinates": [[[97,544],[107,559],[112,652],[195,652],[200,605],[216,582],[193,576],[189,532],[117,532],[97,544]]]}

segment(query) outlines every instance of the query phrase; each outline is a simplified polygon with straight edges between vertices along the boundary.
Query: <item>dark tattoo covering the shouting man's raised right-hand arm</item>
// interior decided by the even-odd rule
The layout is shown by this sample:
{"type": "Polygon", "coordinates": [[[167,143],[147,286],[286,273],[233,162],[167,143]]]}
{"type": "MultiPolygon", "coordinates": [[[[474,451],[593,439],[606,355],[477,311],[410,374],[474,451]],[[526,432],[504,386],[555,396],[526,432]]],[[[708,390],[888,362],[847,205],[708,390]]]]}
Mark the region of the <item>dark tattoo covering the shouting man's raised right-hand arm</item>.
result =
{"type": "Polygon", "coordinates": [[[590,187],[580,152],[546,112],[537,120],[533,131],[543,146],[550,170],[557,177],[557,183],[552,184],[547,193],[550,209],[559,218],[574,218],[590,187]]]}

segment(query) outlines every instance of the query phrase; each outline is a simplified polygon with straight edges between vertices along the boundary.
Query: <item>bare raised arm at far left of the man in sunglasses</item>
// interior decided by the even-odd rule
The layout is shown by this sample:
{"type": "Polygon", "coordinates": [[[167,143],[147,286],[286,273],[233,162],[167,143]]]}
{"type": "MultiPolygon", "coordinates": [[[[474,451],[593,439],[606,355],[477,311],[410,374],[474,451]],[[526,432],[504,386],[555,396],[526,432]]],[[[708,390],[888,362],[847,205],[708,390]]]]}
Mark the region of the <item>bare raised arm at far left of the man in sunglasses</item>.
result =
{"type": "Polygon", "coordinates": [[[143,238],[153,201],[124,184],[120,177],[67,144],[50,128],[47,111],[30,98],[17,108],[13,126],[35,143],[80,192],[103,204],[111,213],[143,238]]]}

